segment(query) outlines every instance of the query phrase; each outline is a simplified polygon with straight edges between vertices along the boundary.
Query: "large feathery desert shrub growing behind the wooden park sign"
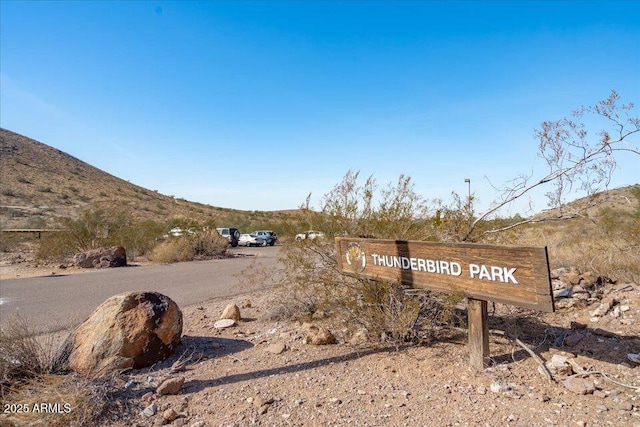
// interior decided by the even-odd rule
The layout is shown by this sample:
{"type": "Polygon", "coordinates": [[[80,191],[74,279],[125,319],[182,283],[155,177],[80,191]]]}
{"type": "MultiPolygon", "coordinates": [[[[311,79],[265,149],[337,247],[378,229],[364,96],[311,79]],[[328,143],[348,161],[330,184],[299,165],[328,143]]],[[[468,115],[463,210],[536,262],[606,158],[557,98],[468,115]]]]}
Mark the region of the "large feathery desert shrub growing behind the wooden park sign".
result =
{"type": "MultiPolygon", "coordinates": [[[[369,337],[400,343],[420,339],[421,331],[443,316],[444,299],[421,300],[398,282],[353,277],[337,269],[334,237],[347,235],[381,239],[432,240],[435,238],[431,210],[413,190],[411,179],[400,176],[395,184],[378,190],[370,177],[358,182],[359,174],[348,172],[342,182],[324,196],[319,213],[308,209],[301,220],[326,238],[303,240],[284,246],[281,285],[284,301],[304,311],[330,312],[332,318],[352,329],[367,331],[369,337]],[[306,301],[306,303],[305,303],[306,301]],[[440,307],[437,308],[436,307],[440,307]]],[[[278,315],[287,314],[282,304],[278,315]]],[[[291,316],[305,313],[288,313],[291,316]]],[[[308,313],[307,313],[308,314],[308,313]]]]}

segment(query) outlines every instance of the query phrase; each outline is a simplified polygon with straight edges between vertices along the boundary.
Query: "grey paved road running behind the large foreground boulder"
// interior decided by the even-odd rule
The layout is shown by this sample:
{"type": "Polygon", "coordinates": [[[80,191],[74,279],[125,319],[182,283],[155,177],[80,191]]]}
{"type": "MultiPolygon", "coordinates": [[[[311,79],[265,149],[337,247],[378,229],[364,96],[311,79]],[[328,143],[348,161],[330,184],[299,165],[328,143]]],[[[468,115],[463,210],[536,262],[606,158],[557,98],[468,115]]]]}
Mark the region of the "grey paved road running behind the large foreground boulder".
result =
{"type": "Polygon", "coordinates": [[[1,280],[0,325],[17,311],[38,331],[64,329],[82,322],[107,298],[126,291],[158,291],[180,307],[231,297],[265,286],[268,280],[248,283],[246,276],[259,268],[277,267],[279,249],[233,248],[232,252],[247,256],[1,280]]]}

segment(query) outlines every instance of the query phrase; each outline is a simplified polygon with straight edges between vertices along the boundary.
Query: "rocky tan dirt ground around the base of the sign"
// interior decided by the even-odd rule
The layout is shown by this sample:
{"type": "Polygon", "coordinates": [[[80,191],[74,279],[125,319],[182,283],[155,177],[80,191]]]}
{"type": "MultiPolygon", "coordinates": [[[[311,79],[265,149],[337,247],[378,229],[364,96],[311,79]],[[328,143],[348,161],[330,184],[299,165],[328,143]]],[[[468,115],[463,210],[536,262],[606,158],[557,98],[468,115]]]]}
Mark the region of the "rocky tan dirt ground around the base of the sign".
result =
{"type": "MultiPolygon", "coordinates": [[[[57,267],[1,268],[8,278],[57,267]]],[[[590,300],[559,304],[555,313],[489,304],[490,328],[517,334],[543,361],[563,362],[552,381],[504,336],[491,336],[490,367],[477,372],[464,330],[428,345],[372,347],[332,329],[320,313],[306,323],[265,320],[274,297],[260,291],[182,307],[176,354],[117,376],[101,425],[640,427],[638,284],[605,283],[590,300]],[[603,301],[611,307],[601,314],[603,301]],[[242,320],[215,328],[231,303],[242,320]],[[307,344],[311,324],[330,328],[337,343],[307,344]],[[180,391],[156,393],[170,378],[184,379],[180,391]]],[[[2,414],[0,425],[3,417],[19,421],[2,414]]]]}

